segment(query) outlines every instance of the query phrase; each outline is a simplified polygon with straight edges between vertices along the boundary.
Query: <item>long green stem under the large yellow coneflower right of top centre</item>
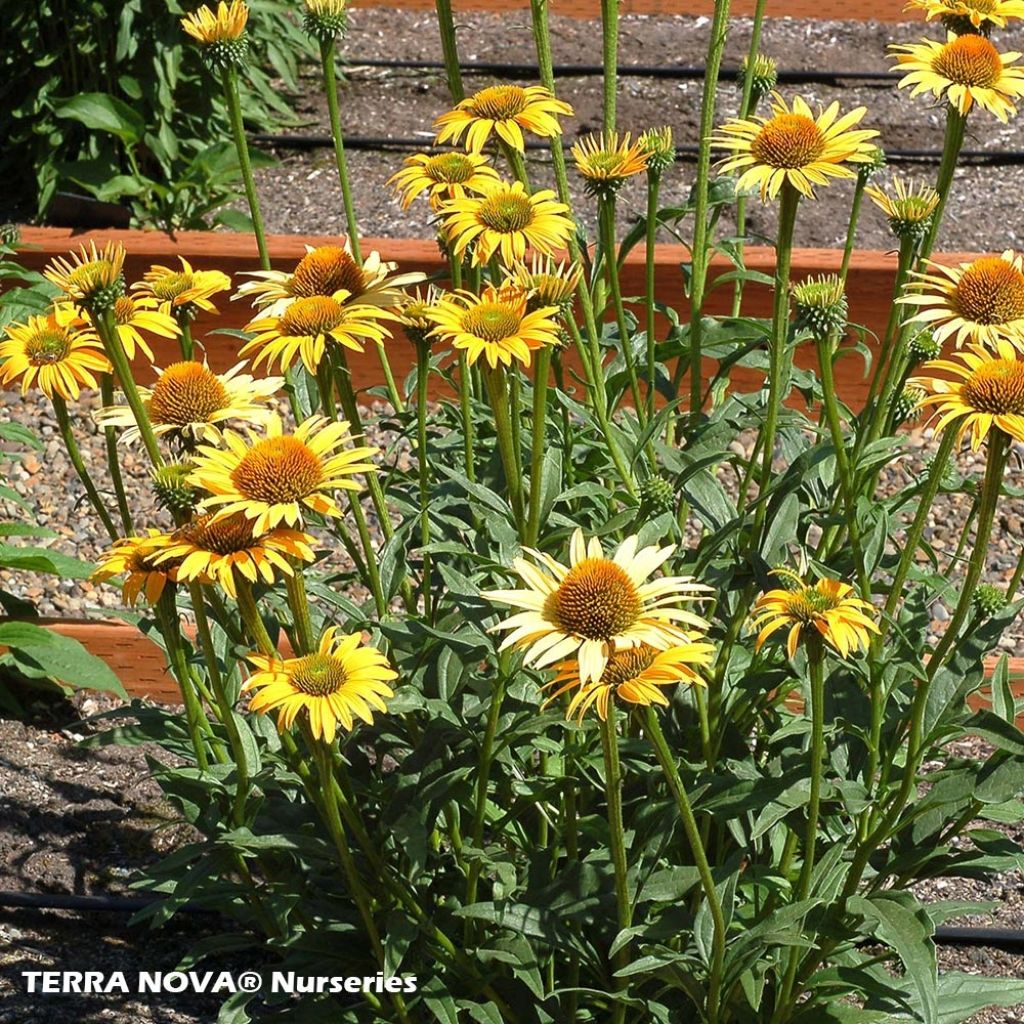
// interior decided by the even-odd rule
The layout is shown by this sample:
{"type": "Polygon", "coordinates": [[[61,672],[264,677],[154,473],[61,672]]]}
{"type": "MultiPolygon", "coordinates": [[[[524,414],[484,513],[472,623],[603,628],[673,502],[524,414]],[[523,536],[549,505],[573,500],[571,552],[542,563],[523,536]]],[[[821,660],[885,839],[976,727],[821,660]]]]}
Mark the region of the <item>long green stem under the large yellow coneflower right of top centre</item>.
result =
{"type": "Polygon", "coordinates": [[[771,482],[772,461],[775,457],[775,433],[782,394],[786,390],[787,349],[790,343],[790,261],[793,255],[793,233],[797,223],[800,193],[788,182],[782,185],[778,211],[778,240],[775,244],[775,296],[772,310],[772,332],[768,349],[768,410],[762,430],[761,476],[758,480],[758,508],[751,535],[752,551],[761,543],[761,531],[768,511],[766,494],[771,482]]]}

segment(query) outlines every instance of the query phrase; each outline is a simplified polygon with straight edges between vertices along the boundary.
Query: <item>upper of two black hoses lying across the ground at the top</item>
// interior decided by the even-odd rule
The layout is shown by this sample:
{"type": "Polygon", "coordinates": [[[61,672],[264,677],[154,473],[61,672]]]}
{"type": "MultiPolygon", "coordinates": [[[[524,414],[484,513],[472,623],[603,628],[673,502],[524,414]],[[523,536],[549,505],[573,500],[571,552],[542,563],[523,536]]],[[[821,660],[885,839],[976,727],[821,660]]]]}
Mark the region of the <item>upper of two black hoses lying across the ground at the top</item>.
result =
{"type": "MultiPolygon", "coordinates": [[[[358,68],[404,69],[409,71],[444,71],[444,65],[438,60],[352,60],[348,70],[358,68]]],[[[529,78],[540,76],[540,69],[531,63],[501,63],[487,60],[475,60],[472,63],[460,65],[463,75],[495,75],[502,78],[529,78]]],[[[700,65],[620,65],[621,78],[662,78],[673,80],[702,81],[705,68],[700,65]]],[[[555,65],[556,78],[591,78],[604,74],[601,65],[555,65]]],[[[723,68],[720,78],[725,81],[735,81],[742,74],[739,68],[723,68]]],[[[818,84],[829,85],[838,82],[892,82],[899,76],[891,72],[880,71],[780,71],[778,81],[787,85],[818,84]]]]}

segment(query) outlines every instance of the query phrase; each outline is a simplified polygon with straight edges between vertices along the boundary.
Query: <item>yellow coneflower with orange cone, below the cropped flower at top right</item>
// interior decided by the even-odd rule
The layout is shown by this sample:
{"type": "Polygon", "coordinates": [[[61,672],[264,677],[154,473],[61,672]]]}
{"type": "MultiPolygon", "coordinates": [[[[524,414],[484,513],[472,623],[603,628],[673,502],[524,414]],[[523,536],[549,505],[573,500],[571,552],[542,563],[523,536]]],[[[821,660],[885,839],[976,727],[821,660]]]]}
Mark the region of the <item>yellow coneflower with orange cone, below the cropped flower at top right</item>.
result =
{"type": "Polygon", "coordinates": [[[930,92],[967,114],[975,103],[1007,121],[1017,113],[1013,100],[1024,94],[1024,68],[1012,67],[1020,53],[1000,53],[984,36],[949,33],[945,43],[890,46],[899,71],[907,72],[899,87],[913,86],[911,96],[930,92]]]}

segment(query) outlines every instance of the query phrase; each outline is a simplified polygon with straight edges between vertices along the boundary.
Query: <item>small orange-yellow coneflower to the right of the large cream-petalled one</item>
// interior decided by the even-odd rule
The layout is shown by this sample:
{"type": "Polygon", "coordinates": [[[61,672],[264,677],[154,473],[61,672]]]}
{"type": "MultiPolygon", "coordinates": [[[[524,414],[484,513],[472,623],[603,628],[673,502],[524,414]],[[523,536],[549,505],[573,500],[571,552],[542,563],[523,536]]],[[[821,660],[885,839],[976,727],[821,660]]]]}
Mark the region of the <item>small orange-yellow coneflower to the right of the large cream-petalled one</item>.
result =
{"type": "Polygon", "coordinates": [[[784,626],[790,627],[785,649],[790,657],[797,653],[801,633],[813,629],[844,657],[866,647],[871,633],[878,633],[874,606],[852,597],[853,588],[839,580],[806,583],[791,569],[774,569],[775,575],[792,583],[792,589],[770,590],[754,605],[751,625],[758,630],[755,649],[784,626]]]}

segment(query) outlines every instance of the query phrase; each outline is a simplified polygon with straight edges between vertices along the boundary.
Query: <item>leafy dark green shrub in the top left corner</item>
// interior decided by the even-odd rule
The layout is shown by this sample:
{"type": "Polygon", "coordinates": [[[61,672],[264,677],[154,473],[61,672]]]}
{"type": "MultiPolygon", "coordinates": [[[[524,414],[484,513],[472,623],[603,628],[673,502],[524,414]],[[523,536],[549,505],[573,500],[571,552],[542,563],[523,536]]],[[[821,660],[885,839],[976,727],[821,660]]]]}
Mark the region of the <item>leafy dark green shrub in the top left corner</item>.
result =
{"type": "MultiPolygon", "coordinates": [[[[0,173],[19,216],[58,189],[123,203],[137,225],[248,225],[221,90],[181,31],[196,3],[38,0],[0,19],[0,173]]],[[[285,0],[254,0],[243,109],[257,128],[294,121],[288,96],[308,39],[285,0]],[[280,81],[279,81],[280,80],[280,81]],[[278,84],[275,84],[275,82],[278,84]]],[[[258,155],[257,155],[258,156],[258,155]]],[[[266,158],[263,158],[266,159],[266,158]]]]}

